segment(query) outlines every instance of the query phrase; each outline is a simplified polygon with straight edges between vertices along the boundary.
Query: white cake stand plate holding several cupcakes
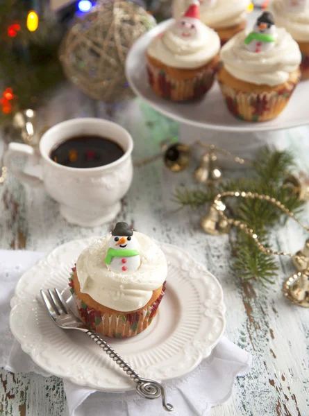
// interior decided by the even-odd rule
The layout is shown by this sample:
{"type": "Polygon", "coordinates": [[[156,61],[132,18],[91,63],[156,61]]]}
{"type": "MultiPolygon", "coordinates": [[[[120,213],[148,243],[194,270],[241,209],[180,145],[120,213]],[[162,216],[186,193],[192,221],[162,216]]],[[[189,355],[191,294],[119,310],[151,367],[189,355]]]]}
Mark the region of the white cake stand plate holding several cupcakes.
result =
{"type": "Polygon", "coordinates": [[[270,131],[297,127],[309,123],[309,80],[301,81],[295,89],[289,104],[283,113],[272,121],[265,123],[248,123],[235,119],[224,103],[218,83],[213,85],[203,101],[199,103],[172,103],[157,96],[151,89],[146,71],[145,53],[151,39],[171,24],[172,19],[163,21],[151,31],[140,37],[126,58],[126,78],[131,88],[158,112],[170,119],[181,121],[200,128],[223,131],[270,131]]]}

